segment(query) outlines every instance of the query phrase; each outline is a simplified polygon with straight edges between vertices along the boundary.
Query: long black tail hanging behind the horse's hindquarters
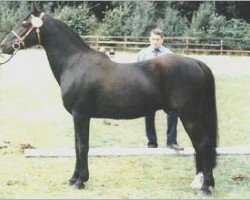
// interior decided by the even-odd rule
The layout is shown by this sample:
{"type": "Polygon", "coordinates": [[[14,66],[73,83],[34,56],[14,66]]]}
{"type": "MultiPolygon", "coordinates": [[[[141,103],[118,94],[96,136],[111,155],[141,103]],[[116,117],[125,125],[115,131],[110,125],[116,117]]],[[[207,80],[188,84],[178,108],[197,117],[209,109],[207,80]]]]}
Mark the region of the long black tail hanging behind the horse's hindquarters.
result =
{"type": "Polygon", "coordinates": [[[202,68],[206,79],[202,105],[202,120],[209,137],[210,146],[214,151],[214,155],[212,157],[214,158],[213,165],[215,166],[215,155],[218,139],[215,80],[212,71],[205,63],[198,61],[198,64],[202,68]]]}

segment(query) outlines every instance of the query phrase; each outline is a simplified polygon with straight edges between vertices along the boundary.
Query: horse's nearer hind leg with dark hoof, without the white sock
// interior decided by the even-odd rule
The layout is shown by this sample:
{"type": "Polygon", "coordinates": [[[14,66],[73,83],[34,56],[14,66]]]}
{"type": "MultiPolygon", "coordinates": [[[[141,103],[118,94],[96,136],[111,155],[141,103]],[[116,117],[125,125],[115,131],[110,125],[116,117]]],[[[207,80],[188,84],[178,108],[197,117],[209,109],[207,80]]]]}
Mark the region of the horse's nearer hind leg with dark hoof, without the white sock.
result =
{"type": "Polygon", "coordinates": [[[209,195],[211,194],[209,187],[215,185],[212,172],[215,167],[215,147],[211,145],[211,139],[202,124],[201,117],[188,119],[180,116],[180,118],[196,152],[196,173],[203,172],[204,175],[201,191],[209,195]]]}

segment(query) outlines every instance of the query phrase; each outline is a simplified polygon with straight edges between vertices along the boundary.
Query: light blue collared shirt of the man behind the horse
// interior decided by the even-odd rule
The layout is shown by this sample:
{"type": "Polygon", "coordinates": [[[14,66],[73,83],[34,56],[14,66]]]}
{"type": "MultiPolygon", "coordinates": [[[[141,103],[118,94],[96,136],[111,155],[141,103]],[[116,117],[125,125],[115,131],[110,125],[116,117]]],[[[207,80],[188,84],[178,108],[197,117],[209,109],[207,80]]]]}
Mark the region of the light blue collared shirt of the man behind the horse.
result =
{"type": "Polygon", "coordinates": [[[137,56],[137,62],[138,61],[144,61],[144,60],[149,60],[151,58],[155,58],[157,56],[162,56],[165,54],[172,54],[173,52],[164,47],[161,46],[159,49],[154,49],[151,46],[142,49],[141,51],[139,51],[138,56],[137,56]]]}

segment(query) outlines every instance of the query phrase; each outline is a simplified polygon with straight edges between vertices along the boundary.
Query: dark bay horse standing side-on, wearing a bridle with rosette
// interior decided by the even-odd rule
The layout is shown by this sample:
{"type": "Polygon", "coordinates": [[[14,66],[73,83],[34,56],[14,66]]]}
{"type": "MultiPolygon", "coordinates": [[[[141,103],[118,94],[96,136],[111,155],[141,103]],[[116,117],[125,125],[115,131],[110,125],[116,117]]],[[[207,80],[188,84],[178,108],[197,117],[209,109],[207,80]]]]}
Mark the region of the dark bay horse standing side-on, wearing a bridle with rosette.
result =
{"type": "Polygon", "coordinates": [[[112,62],[91,49],[66,24],[34,9],[2,41],[2,52],[41,44],[74,119],[76,165],[69,182],[89,179],[91,118],[134,119],[156,110],[175,110],[195,149],[201,191],[210,194],[216,165],[217,111],[211,70],[201,61],[165,55],[132,64],[112,62]]]}

